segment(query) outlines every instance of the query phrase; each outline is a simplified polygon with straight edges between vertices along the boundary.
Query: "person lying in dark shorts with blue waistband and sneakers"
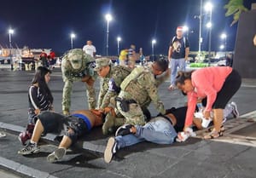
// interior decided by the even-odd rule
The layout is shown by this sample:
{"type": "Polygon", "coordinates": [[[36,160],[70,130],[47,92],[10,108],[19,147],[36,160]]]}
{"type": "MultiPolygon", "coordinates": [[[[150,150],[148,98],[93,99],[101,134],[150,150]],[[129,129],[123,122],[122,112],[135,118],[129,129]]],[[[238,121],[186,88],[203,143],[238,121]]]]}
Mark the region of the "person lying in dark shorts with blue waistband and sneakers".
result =
{"type": "MultiPolygon", "coordinates": [[[[106,108],[106,111],[112,112],[113,109],[108,108],[107,110],[106,108]]],[[[88,133],[93,127],[102,125],[103,119],[104,115],[102,112],[93,109],[75,111],[70,116],[55,112],[42,112],[37,116],[31,141],[18,151],[18,154],[38,153],[40,151],[38,141],[42,134],[54,133],[61,135],[64,132],[65,135],[58,148],[47,157],[49,163],[54,163],[65,156],[67,148],[78,141],[80,136],[88,133]]]]}

